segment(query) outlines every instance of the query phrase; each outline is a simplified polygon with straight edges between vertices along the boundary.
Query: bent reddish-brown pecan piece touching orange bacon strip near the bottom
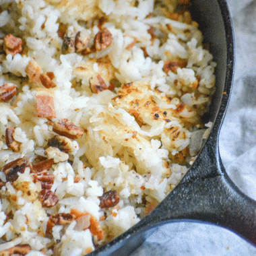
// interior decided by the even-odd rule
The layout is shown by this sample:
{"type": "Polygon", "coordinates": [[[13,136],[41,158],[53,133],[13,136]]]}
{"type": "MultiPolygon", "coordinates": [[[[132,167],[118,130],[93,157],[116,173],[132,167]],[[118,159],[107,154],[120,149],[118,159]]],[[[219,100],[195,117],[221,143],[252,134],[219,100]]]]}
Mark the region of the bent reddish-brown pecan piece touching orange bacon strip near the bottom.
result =
{"type": "Polygon", "coordinates": [[[74,219],[75,217],[72,214],[61,213],[51,215],[46,225],[46,235],[51,235],[54,226],[70,224],[74,219]]]}

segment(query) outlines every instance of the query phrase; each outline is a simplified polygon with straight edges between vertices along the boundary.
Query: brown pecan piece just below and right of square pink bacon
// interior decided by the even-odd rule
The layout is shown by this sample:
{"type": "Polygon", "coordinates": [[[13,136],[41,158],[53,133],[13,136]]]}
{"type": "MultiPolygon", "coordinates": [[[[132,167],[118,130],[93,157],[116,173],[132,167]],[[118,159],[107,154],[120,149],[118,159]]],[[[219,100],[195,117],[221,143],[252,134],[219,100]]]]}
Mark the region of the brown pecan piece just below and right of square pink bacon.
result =
{"type": "Polygon", "coordinates": [[[74,125],[69,119],[55,121],[53,123],[53,131],[59,135],[69,137],[69,139],[78,139],[83,135],[83,130],[74,125]]]}

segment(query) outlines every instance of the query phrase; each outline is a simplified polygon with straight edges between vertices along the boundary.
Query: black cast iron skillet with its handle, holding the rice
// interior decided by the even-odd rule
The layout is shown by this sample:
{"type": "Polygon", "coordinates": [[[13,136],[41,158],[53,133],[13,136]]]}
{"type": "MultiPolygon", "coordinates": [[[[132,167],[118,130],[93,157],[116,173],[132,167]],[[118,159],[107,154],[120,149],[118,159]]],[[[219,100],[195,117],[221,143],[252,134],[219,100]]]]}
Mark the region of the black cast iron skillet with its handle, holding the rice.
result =
{"type": "Polygon", "coordinates": [[[210,136],[185,177],[166,199],[138,224],[90,256],[129,255],[152,232],[152,228],[178,220],[218,224],[256,245],[256,202],[230,181],[218,149],[218,135],[230,96],[234,68],[230,14],[225,0],[194,0],[191,11],[218,64],[217,90],[209,114],[209,119],[214,122],[210,136]]]}

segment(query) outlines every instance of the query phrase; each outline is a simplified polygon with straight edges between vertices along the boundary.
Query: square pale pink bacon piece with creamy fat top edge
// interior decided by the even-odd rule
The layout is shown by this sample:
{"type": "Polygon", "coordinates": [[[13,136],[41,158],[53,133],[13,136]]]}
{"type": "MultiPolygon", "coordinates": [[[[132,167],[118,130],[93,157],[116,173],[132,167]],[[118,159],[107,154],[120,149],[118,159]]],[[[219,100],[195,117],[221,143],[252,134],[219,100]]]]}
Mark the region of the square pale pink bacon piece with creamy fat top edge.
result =
{"type": "Polygon", "coordinates": [[[51,89],[36,88],[36,110],[38,117],[56,118],[54,92],[51,89]]]}

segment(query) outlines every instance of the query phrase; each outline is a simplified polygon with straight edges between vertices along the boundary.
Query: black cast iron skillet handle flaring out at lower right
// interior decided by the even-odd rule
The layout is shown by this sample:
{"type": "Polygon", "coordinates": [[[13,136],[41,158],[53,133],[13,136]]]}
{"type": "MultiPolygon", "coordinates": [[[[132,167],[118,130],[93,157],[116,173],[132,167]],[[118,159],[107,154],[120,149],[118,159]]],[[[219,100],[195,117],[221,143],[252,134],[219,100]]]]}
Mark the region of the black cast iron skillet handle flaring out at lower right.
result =
{"type": "Polygon", "coordinates": [[[239,191],[226,174],[218,138],[207,141],[181,183],[148,218],[153,226],[177,219],[211,222],[256,245],[256,201],[239,191]]]}

